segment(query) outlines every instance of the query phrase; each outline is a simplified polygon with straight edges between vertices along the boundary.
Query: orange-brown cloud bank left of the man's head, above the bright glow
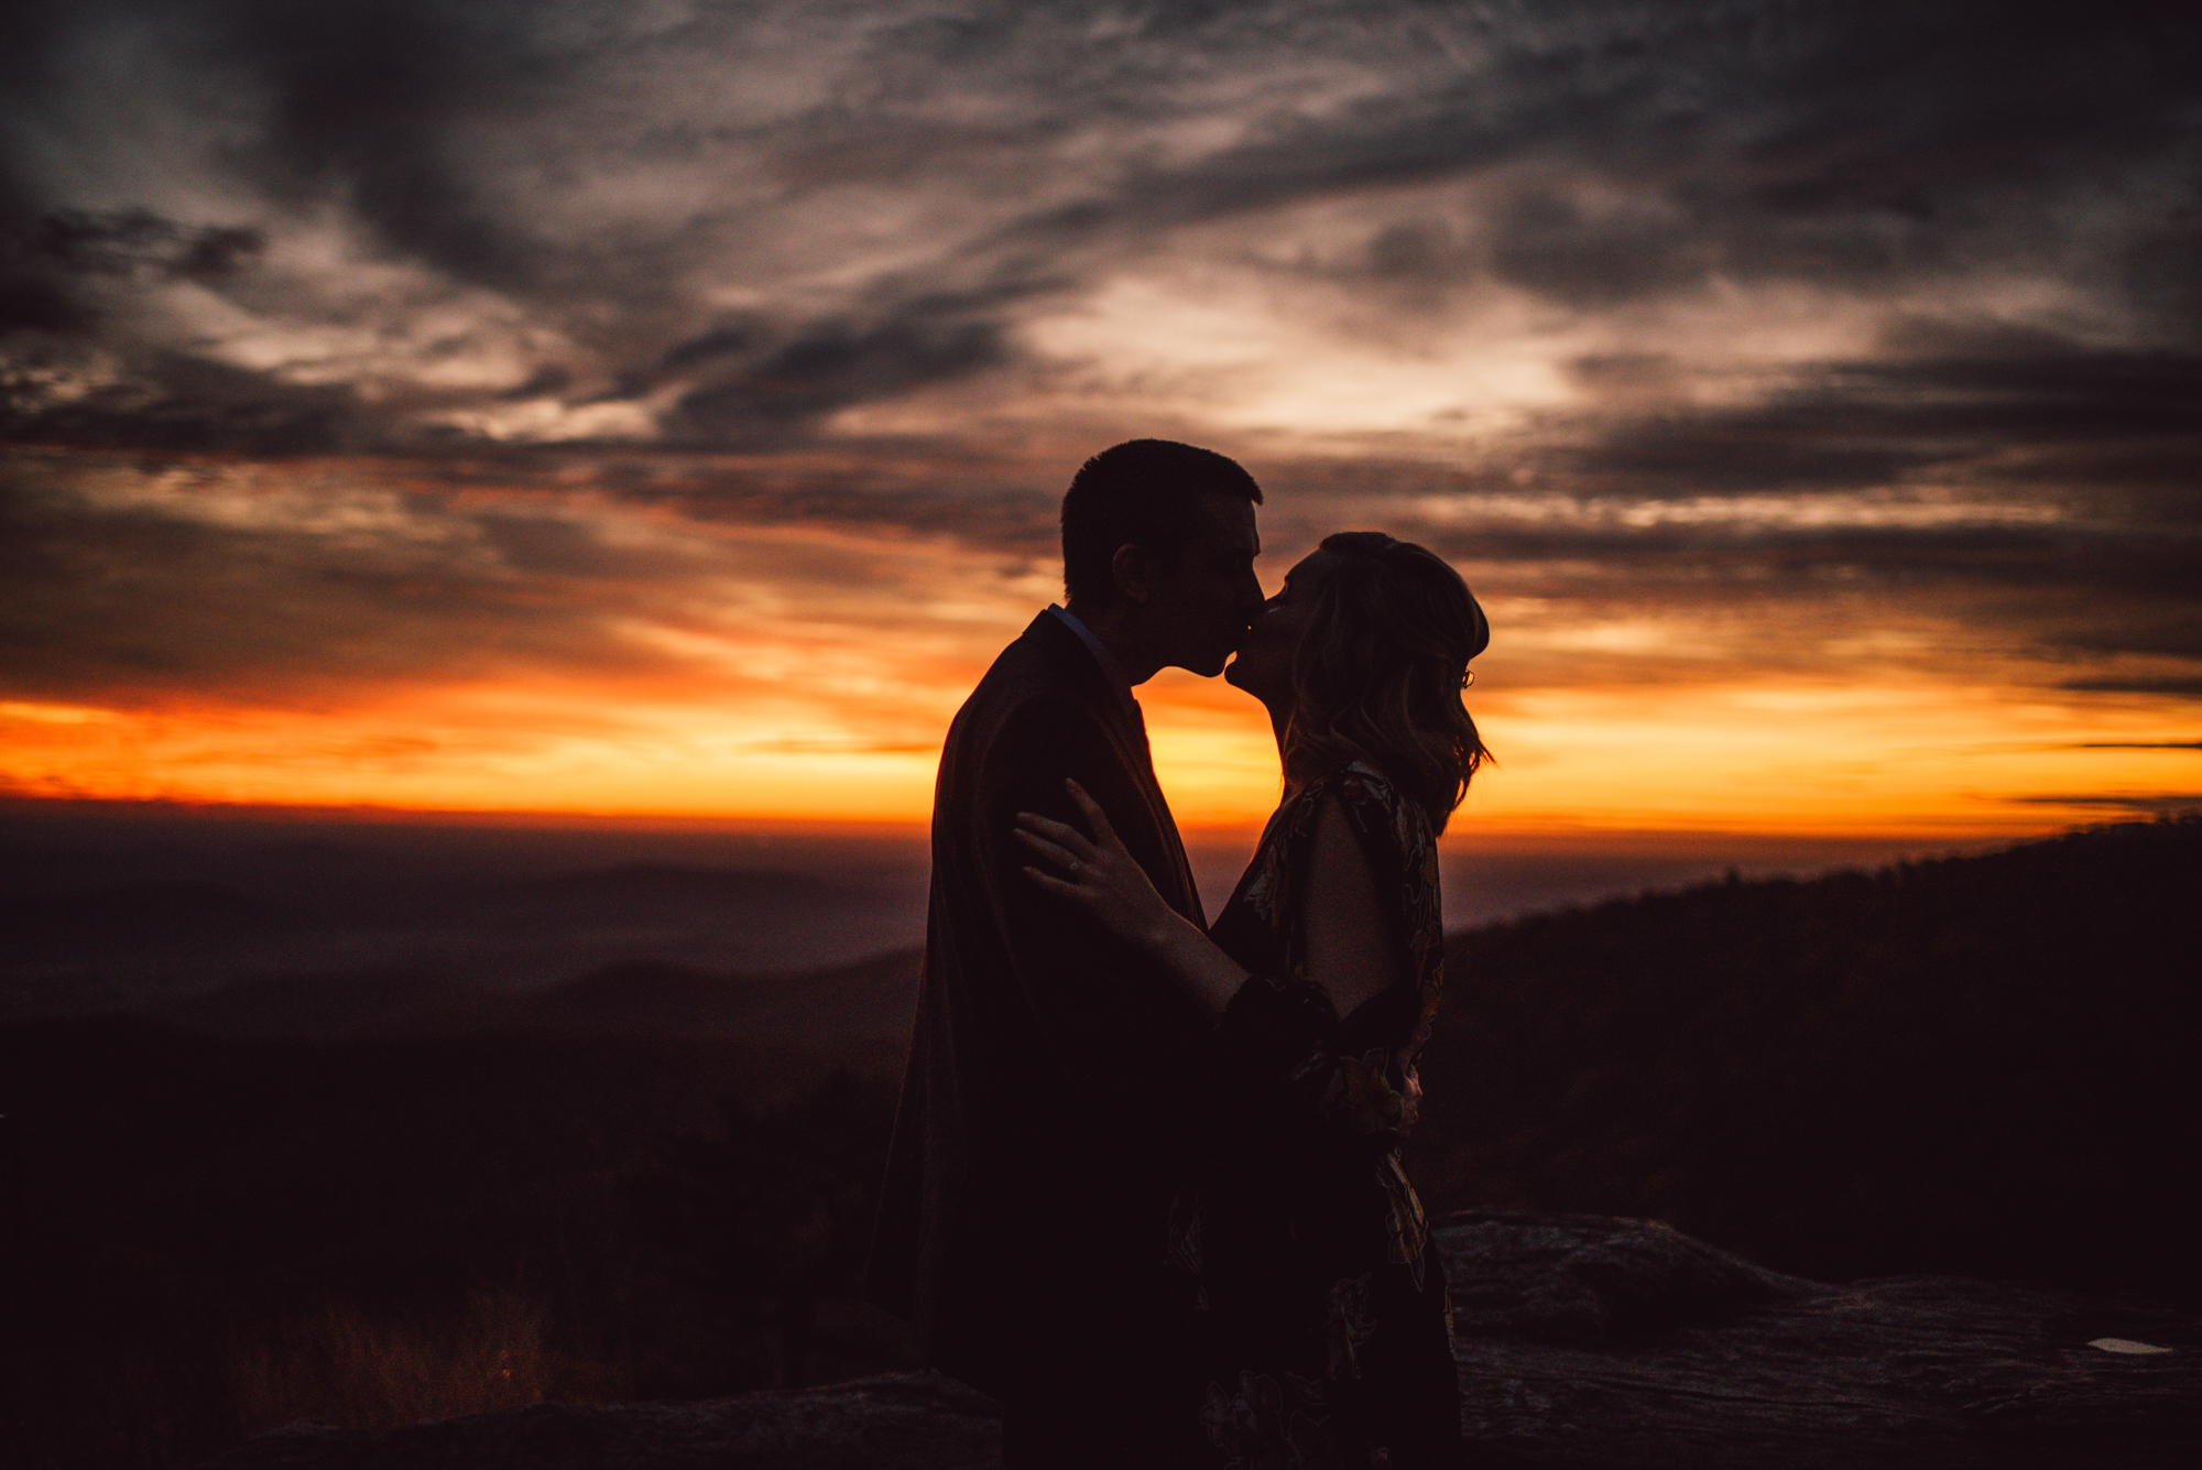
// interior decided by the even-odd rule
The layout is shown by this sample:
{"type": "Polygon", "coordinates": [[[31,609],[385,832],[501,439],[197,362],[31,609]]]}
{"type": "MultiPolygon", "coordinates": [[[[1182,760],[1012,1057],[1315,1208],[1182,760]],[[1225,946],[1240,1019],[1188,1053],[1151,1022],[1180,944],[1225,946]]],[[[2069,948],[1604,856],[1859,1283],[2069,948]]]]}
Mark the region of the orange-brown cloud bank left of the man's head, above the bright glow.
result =
{"type": "MultiPolygon", "coordinates": [[[[1031,581],[1053,539],[1053,497],[978,502],[978,546],[1028,555],[971,568],[942,550],[973,526],[949,497],[925,506],[914,482],[799,462],[698,473],[678,458],[647,489],[634,464],[597,480],[566,458],[434,467],[0,453],[4,693],[326,711],[535,684],[740,709],[839,680],[841,662],[883,669],[868,651],[883,627],[905,669],[947,658],[962,678],[971,614],[945,603],[1013,618],[1031,592],[1006,588],[1031,581]],[[619,482],[628,495],[606,491],[619,482]]],[[[868,728],[907,746],[912,711],[925,706],[874,711],[868,728]]]]}

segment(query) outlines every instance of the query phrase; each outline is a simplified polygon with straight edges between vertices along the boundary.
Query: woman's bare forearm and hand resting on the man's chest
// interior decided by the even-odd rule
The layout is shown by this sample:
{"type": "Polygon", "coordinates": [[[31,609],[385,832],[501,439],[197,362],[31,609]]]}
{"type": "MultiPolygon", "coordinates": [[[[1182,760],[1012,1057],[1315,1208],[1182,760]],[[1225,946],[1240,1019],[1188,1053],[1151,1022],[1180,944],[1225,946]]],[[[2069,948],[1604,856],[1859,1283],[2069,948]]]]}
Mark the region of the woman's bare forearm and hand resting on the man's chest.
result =
{"type": "Polygon", "coordinates": [[[1026,865],[1024,871],[1046,891],[1086,907],[1121,940],[1154,955],[1196,1006],[1209,1017],[1220,1017],[1246,984],[1246,970],[1191,920],[1163,902],[1147,871],[1110,827],[1108,814],[1077,781],[1064,781],[1064,790],[1094,834],[1088,838],[1068,823],[1017,812],[1017,841],[1053,869],[1026,865]]]}

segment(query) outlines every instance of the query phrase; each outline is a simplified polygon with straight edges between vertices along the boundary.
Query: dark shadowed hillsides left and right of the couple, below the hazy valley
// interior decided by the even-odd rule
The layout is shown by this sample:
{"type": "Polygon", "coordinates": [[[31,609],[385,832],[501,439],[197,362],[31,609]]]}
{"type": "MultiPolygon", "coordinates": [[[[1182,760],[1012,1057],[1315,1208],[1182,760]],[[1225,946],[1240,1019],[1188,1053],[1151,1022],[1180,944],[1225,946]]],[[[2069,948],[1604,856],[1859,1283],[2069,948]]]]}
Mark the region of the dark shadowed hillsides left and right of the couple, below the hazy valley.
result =
{"type": "MultiPolygon", "coordinates": [[[[2195,893],[2187,819],[1453,935],[1409,1166],[1438,1210],[2191,1316],[2195,893]]],[[[850,1285],[914,986],[912,951],[526,995],[266,975],[0,1023],[0,1466],[914,1369],[850,1285]]],[[[1508,1424],[1572,1422],[1524,1393],[1508,1424]]]]}

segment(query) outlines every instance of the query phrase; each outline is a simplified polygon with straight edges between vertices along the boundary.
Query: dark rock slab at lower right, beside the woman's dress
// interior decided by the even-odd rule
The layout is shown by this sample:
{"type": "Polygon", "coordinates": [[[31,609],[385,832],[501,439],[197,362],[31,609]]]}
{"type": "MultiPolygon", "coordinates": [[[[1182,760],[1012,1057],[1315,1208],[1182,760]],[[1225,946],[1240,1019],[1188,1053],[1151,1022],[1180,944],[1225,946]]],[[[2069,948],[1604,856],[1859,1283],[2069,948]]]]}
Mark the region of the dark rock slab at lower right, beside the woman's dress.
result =
{"type": "Polygon", "coordinates": [[[1467,1213],[1438,1239],[1467,1433],[1502,1459],[2202,1463],[2202,1323],[2162,1307],[1955,1276],[1821,1285],[1605,1217],[1467,1213]]]}

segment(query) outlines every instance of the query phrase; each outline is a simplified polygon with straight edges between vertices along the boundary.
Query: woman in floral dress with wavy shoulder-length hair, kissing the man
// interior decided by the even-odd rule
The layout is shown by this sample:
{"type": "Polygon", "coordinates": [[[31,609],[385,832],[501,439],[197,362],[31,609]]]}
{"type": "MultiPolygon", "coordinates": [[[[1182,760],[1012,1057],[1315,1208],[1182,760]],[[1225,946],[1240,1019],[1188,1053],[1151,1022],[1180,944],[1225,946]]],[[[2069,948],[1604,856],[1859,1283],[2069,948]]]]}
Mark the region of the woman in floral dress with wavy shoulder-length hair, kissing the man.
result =
{"type": "Polygon", "coordinates": [[[1202,1303],[1187,1384],[1218,1466],[1453,1466],[1445,1276],[1398,1149],[1442,984],[1436,836],[1486,759],[1460,704],[1491,640],[1438,557],[1345,533],[1293,568],[1224,678],[1268,706],[1284,803],[1207,933],[1108,819],[1020,814],[1037,885],[1154,953],[1229,1065],[1169,1257],[1202,1303]]]}

